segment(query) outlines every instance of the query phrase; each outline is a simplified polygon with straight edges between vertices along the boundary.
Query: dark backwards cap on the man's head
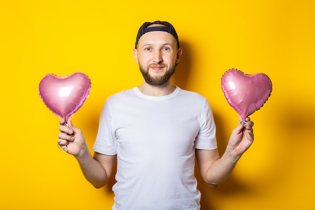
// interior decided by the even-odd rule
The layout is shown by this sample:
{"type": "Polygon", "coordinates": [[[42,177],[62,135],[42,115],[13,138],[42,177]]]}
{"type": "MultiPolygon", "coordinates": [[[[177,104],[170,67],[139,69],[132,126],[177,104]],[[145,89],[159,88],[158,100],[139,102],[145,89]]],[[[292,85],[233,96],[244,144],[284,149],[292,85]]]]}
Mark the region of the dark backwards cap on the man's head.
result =
{"type": "Polygon", "coordinates": [[[154,22],[143,23],[142,26],[139,28],[139,31],[137,34],[135,48],[137,48],[137,44],[138,44],[140,37],[143,34],[150,32],[150,31],[165,31],[165,32],[172,34],[174,36],[174,38],[176,39],[177,47],[179,48],[179,41],[178,41],[178,36],[177,36],[176,31],[175,31],[175,28],[173,27],[172,24],[170,24],[169,22],[166,22],[166,21],[154,21],[154,22]],[[165,26],[154,26],[154,27],[147,28],[149,25],[152,25],[152,24],[162,24],[162,25],[165,25],[166,27],[165,26]]]}

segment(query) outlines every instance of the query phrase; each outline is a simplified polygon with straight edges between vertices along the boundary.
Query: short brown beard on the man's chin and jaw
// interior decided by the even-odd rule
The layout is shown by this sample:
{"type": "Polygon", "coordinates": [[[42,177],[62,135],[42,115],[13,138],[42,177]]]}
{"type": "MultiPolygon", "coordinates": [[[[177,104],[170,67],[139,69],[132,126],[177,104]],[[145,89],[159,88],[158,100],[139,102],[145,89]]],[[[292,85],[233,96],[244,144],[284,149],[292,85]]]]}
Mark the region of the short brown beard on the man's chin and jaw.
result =
{"type": "Polygon", "coordinates": [[[156,77],[152,77],[149,74],[150,66],[145,68],[145,67],[139,65],[139,68],[140,68],[140,72],[142,74],[142,77],[147,84],[152,85],[152,86],[163,86],[169,82],[172,75],[175,73],[176,65],[170,66],[164,75],[156,76],[156,77]]]}

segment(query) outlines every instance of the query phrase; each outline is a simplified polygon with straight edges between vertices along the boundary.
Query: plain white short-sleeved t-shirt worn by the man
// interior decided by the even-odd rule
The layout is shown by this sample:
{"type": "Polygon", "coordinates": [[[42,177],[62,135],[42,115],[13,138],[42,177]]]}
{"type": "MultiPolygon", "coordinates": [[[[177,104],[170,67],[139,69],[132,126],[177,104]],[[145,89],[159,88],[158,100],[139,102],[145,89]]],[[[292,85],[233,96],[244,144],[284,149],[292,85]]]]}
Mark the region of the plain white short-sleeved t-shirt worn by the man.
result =
{"type": "Polygon", "coordinates": [[[179,87],[154,97],[135,87],[107,99],[93,150],[117,154],[113,210],[197,210],[195,149],[216,148],[205,97],[179,87]]]}

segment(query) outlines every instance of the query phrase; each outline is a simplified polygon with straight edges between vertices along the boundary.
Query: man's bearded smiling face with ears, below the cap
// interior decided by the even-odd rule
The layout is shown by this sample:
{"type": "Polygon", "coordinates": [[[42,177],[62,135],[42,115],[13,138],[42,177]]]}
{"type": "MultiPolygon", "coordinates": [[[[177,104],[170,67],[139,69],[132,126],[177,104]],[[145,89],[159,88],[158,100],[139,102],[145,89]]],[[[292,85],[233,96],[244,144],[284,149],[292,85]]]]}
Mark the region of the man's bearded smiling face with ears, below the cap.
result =
{"type": "Polygon", "coordinates": [[[133,53],[144,81],[149,85],[162,86],[174,74],[182,50],[177,49],[176,39],[168,32],[151,31],[141,36],[133,53]]]}

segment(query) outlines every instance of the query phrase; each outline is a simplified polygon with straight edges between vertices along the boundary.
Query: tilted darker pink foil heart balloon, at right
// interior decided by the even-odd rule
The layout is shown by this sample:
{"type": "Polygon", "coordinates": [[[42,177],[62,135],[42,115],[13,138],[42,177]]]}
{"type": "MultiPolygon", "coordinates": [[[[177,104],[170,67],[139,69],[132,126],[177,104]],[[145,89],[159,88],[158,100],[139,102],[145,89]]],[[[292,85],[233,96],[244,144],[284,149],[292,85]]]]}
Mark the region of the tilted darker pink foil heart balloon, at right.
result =
{"type": "Polygon", "coordinates": [[[232,68],[222,76],[221,88],[228,104],[245,119],[268,100],[272,83],[263,73],[248,75],[232,68]]]}

